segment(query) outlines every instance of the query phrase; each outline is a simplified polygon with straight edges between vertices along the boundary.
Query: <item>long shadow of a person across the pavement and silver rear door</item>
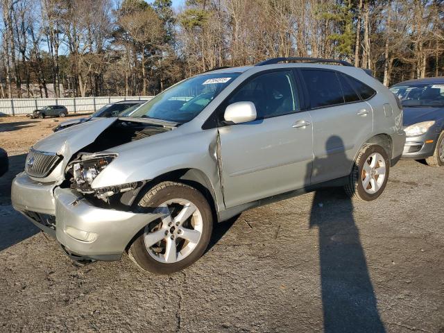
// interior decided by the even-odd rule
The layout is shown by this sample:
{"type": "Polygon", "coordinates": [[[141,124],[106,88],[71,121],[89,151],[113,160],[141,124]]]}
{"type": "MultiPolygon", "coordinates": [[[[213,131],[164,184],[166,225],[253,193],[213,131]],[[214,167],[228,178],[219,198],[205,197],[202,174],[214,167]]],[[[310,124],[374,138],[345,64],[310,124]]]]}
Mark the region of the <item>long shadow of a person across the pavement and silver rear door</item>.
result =
{"type": "MultiPolygon", "coordinates": [[[[327,140],[327,156],[317,158],[311,177],[335,166],[353,166],[340,137],[327,140]]],[[[358,178],[359,182],[362,180],[358,178]]],[[[353,203],[342,188],[316,191],[310,228],[318,228],[324,332],[385,332],[353,216],[353,203]]]]}

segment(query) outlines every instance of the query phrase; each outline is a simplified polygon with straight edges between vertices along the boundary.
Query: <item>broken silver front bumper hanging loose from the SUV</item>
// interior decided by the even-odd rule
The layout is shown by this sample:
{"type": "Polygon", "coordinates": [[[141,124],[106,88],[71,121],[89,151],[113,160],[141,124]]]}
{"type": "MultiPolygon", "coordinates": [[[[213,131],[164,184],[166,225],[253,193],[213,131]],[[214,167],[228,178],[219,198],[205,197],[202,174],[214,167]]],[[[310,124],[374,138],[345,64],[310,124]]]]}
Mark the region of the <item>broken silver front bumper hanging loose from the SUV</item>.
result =
{"type": "Polygon", "coordinates": [[[95,207],[76,191],[34,182],[24,173],[12,182],[11,198],[16,210],[69,254],[86,259],[120,259],[135,234],[162,216],[95,207]]]}

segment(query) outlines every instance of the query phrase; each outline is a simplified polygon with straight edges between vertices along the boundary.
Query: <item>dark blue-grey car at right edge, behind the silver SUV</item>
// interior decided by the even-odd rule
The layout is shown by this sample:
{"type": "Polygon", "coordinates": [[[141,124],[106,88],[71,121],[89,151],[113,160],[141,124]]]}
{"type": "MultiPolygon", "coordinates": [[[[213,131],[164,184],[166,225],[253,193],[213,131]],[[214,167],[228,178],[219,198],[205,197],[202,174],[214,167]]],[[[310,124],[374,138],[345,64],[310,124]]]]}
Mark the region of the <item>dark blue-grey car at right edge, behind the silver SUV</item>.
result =
{"type": "Polygon", "coordinates": [[[444,78],[422,78],[393,85],[404,109],[407,134],[402,158],[444,166],[444,78]]]}

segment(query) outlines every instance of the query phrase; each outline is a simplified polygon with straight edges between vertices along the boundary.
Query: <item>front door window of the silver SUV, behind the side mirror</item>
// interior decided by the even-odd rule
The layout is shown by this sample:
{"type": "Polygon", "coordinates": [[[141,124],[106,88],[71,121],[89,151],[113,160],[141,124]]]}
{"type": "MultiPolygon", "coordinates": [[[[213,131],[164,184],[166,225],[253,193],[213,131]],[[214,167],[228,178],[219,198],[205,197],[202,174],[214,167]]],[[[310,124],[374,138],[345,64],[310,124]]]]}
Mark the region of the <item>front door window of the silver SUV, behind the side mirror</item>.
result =
{"type": "Polygon", "coordinates": [[[259,75],[241,87],[228,104],[253,102],[257,119],[276,117],[299,110],[291,71],[275,71],[259,75]]]}

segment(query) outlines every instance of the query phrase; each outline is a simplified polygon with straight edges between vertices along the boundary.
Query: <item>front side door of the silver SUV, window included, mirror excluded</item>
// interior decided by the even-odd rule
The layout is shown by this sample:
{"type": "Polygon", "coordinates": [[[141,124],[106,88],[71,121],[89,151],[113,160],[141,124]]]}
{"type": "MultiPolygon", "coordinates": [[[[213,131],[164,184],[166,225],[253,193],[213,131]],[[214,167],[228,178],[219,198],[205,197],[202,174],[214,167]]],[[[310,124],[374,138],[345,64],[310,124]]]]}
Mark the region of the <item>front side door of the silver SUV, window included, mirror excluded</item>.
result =
{"type": "Polygon", "coordinates": [[[305,187],[313,151],[311,117],[300,112],[291,70],[247,79],[223,103],[251,101],[257,120],[219,128],[226,207],[305,187]]]}

